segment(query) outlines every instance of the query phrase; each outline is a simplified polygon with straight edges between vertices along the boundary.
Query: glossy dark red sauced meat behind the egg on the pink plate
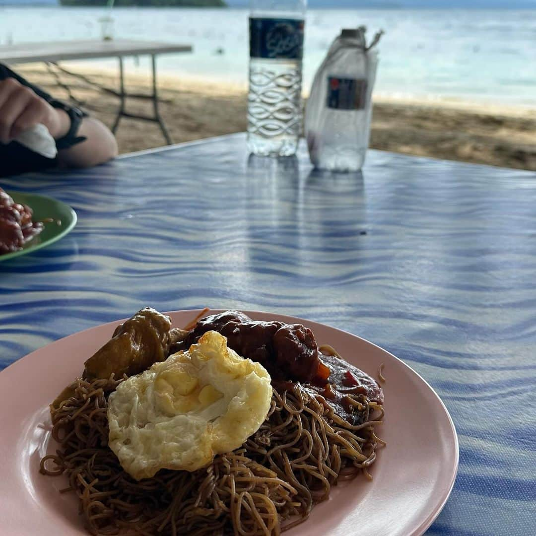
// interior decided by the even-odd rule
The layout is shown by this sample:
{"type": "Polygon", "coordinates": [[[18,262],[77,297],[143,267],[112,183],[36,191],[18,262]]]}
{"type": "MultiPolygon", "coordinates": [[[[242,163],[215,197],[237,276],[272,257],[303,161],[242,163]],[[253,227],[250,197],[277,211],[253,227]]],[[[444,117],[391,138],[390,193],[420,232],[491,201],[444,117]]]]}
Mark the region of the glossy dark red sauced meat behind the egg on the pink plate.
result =
{"type": "Polygon", "coordinates": [[[279,391],[299,382],[351,424],[360,424],[363,413],[348,395],[383,404],[382,389],[373,378],[336,355],[320,354],[314,334],[301,324],[254,321],[240,311],[225,311],[200,319],[175,350],[188,349],[211,330],[227,337],[229,348],[244,358],[262,363],[279,391]]]}

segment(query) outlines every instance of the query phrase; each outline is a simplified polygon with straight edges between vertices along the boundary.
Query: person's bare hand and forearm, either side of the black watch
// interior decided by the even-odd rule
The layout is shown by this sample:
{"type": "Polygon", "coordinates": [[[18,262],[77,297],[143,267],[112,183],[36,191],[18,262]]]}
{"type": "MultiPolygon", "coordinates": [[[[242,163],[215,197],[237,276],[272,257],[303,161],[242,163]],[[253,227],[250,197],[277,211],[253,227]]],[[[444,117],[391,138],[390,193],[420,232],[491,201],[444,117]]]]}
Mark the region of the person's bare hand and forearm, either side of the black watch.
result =
{"type": "MultiPolygon", "coordinates": [[[[54,139],[64,137],[71,126],[69,115],[51,106],[48,95],[39,88],[23,84],[20,80],[25,82],[12,76],[0,80],[0,143],[10,143],[21,132],[38,123],[44,124],[54,139]]],[[[77,135],[87,139],[58,151],[59,165],[94,166],[117,155],[115,137],[100,121],[84,117],[77,135]]]]}

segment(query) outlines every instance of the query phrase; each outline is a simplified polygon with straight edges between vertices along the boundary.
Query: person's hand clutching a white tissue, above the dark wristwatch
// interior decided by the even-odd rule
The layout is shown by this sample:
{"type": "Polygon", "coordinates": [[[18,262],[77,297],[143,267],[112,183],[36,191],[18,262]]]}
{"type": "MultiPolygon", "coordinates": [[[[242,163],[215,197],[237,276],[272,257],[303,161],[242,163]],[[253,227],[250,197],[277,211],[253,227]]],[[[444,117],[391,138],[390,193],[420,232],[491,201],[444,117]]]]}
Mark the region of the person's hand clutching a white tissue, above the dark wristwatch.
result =
{"type": "Polygon", "coordinates": [[[14,78],[0,80],[0,143],[8,144],[21,132],[42,123],[53,138],[69,130],[69,116],[14,78]]]}

